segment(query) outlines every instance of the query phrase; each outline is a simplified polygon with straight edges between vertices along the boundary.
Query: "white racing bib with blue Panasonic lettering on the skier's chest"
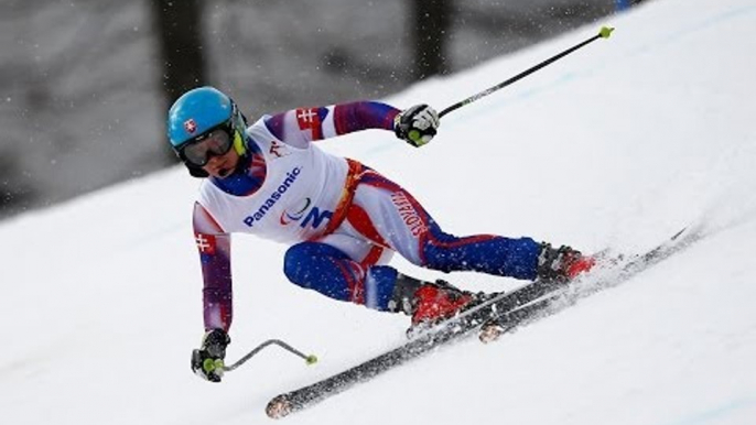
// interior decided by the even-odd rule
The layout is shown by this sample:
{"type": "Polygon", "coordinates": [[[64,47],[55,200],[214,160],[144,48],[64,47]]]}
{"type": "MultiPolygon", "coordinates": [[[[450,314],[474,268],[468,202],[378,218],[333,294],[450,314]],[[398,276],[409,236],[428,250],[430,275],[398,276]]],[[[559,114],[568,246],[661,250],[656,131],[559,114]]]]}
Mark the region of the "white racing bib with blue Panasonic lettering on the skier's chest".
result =
{"type": "Polygon", "coordinates": [[[285,144],[262,118],[247,129],[247,135],[266,160],[262,186],[252,195],[235,196],[206,179],[199,204],[228,233],[252,233],[279,242],[323,235],[345,190],[347,161],[313,143],[305,149],[285,144]]]}

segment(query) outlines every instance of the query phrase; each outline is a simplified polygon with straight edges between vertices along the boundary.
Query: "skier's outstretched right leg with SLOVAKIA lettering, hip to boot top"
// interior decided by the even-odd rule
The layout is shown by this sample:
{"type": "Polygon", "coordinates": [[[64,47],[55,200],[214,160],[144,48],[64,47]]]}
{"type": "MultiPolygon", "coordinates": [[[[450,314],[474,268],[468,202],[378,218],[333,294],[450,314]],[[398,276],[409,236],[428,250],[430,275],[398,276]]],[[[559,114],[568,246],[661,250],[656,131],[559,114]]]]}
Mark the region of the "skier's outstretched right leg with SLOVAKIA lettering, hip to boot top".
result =
{"type": "Polygon", "coordinates": [[[374,171],[365,173],[357,186],[347,220],[374,242],[421,266],[528,280],[537,276],[541,243],[530,238],[446,233],[412,195],[374,171]]]}

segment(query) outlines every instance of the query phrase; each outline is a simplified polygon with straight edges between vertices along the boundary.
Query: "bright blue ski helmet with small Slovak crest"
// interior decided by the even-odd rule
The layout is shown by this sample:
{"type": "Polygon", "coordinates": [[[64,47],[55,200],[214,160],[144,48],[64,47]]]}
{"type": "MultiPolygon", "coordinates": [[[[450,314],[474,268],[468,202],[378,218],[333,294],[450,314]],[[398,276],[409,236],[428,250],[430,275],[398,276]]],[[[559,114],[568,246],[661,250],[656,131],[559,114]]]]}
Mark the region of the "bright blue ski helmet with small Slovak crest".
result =
{"type": "Polygon", "coordinates": [[[168,138],[174,152],[195,177],[207,177],[201,166],[186,161],[183,150],[203,141],[214,130],[225,130],[234,141],[239,155],[246,153],[244,132],[247,119],[234,100],[213,87],[198,87],[186,91],[168,112],[168,138]]]}

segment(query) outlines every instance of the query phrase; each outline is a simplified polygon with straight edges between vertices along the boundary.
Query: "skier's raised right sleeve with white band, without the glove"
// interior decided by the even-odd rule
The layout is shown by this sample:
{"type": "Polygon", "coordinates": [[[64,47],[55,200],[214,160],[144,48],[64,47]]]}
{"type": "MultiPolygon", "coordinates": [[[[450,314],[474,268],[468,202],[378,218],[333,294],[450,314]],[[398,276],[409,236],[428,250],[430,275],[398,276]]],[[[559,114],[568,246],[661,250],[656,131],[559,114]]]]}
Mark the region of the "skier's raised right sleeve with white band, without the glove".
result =
{"type": "Polygon", "coordinates": [[[377,101],[300,108],[266,118],[268,130],[287,144],[307,143],[368,129],[393,131],[399,109],[377,101]]]}

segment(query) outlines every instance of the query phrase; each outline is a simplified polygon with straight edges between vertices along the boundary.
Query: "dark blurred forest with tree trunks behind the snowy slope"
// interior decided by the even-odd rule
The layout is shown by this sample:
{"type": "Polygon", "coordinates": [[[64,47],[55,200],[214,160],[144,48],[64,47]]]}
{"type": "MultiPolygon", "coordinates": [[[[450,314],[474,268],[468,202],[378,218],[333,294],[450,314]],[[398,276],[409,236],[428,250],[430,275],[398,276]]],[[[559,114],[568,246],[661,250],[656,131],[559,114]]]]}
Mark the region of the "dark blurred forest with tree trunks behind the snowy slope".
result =
{"type": "Polygon", "coordinates": [[[379,99],[637,2],[3,1],[0,218],[174,164],[164,116],[190,88],[251,117],[379,99]]]}

